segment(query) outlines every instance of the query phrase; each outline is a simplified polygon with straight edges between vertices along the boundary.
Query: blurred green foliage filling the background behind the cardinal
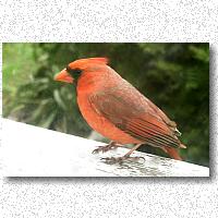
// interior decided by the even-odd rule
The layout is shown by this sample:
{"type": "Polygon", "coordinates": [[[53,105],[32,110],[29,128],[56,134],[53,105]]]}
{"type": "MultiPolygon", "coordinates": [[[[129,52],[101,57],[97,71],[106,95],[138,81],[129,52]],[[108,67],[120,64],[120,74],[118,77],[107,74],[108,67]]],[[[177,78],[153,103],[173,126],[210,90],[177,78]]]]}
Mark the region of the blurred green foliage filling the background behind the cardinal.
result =
{"type": "MultiPolygon", "coordinates": [[[[88,57],[108,57],[178,123],[187,145],[184,159],[209,165],[208,44],[3,44],[3,117],[87,137],[92,130],[78,111],[75,87],[53,75],[88,57]]],[[[165,155],[148,146],[141,150],[165,155]]]]}

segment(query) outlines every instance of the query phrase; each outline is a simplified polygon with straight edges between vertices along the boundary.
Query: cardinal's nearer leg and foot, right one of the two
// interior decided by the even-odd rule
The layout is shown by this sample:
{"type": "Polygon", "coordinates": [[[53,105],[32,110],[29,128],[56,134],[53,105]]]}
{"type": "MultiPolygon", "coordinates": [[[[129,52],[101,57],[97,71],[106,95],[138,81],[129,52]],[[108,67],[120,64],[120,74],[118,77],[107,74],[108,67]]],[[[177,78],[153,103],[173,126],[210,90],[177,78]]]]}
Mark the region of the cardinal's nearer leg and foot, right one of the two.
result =
{"type": "Polygon", "coordinates": [[[145,160],[144,157],[130,157],[130,155],[137,149],[142,144],[136,144],[132,149],[130,149],[123,157],[106,157],[101,158],[102,160],[116,164],[116,162],[122,162],[123,160],[145,160]]]}

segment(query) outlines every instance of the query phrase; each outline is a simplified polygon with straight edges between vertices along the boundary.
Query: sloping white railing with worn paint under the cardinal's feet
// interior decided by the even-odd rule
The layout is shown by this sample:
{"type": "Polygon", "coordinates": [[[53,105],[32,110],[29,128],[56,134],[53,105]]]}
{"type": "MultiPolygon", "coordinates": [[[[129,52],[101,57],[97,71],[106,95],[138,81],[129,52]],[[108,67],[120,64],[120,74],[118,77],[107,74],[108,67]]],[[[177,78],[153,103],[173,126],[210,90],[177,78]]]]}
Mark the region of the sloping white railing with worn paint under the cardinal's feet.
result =
{"type": "Polygon", "coordinates": [[[209,177],[206,167],[135,152],[145,161],[109,164],[126,148],[92,152],[102,143],[7,119],[3,122],[4,177],[209,177]]]}

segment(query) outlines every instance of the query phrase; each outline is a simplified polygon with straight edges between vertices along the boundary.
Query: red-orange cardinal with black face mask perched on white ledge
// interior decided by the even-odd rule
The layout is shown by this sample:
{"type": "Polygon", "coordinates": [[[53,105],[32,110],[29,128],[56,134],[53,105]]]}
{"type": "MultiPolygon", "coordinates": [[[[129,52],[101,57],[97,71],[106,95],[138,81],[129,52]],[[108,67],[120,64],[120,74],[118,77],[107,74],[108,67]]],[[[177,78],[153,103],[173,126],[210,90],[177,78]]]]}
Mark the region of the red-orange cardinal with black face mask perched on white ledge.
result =
{"type": "Polygon", "coordinates": [[[178,148],[185,146],[181,133],[155,104],[108,65],[107,58],[73,61],[55,76],[56,81],[76,85],[77,104],[92,129],[111,142],[94,153],[133,144],[123,157],[107,160],[123,161],[141,145],[159,147],[171,158],[182,160],[178,148]]]}

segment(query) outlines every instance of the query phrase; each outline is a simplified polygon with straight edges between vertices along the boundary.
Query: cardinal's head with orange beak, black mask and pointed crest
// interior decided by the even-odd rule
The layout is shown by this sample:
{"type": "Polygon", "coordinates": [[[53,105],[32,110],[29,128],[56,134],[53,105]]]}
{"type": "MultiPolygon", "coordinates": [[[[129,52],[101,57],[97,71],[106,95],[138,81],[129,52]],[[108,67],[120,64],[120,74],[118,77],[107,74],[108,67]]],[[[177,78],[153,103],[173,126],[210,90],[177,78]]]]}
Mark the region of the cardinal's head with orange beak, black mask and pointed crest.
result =
{"type": "Polygon", "coordinates": [[[61,81],[65,83],[73,83],[84,72],[92,71],[96,65],[107,64],[107,58],[88,58],[73,61],[66,65],[60,73],[55,76],[55,81],[61,81]]]}

